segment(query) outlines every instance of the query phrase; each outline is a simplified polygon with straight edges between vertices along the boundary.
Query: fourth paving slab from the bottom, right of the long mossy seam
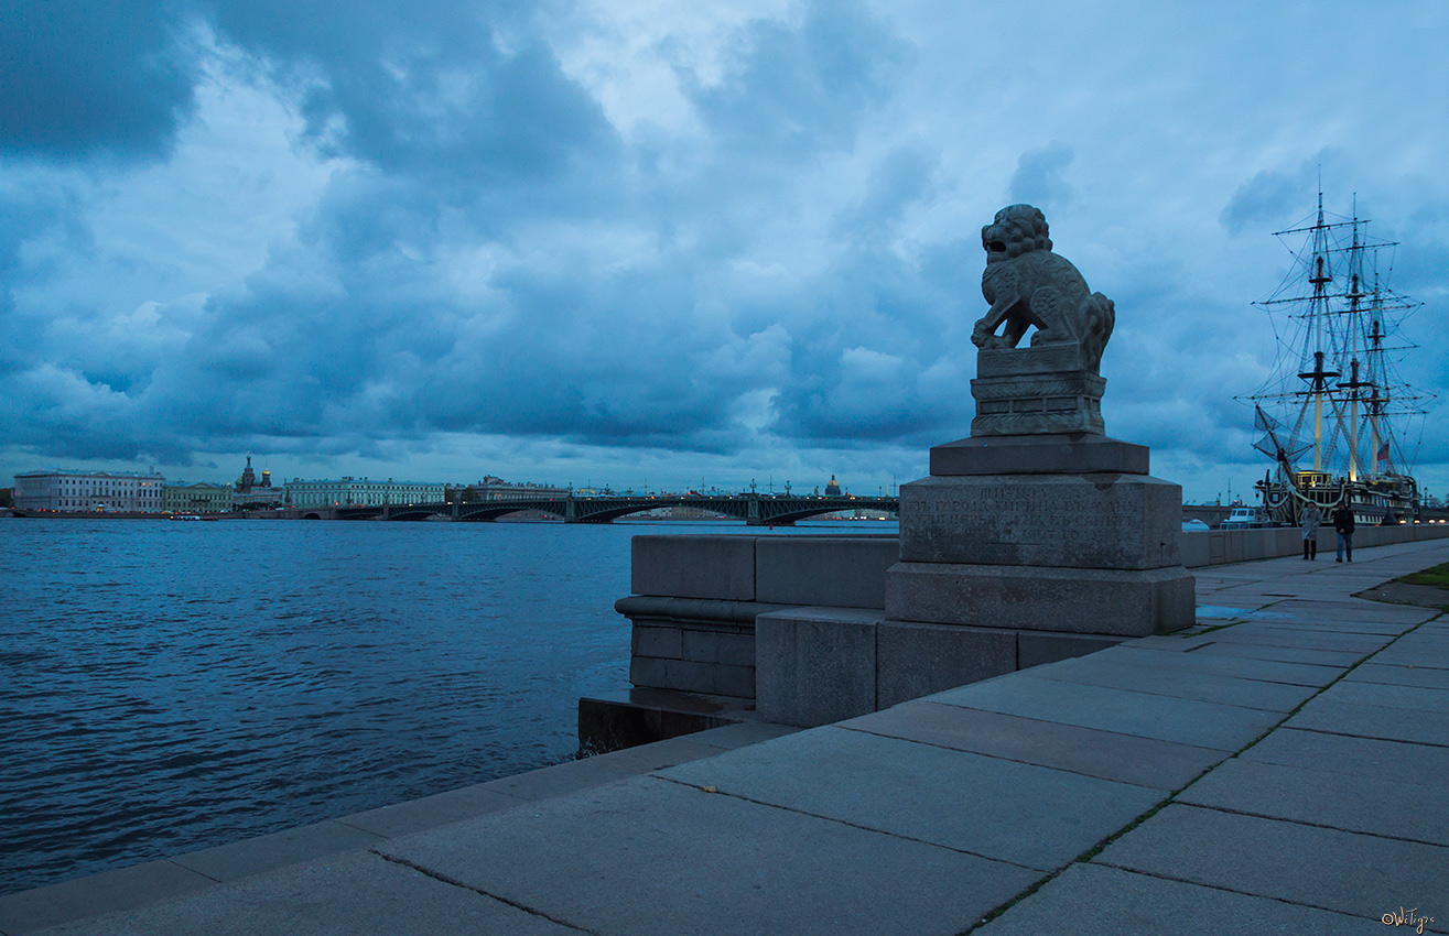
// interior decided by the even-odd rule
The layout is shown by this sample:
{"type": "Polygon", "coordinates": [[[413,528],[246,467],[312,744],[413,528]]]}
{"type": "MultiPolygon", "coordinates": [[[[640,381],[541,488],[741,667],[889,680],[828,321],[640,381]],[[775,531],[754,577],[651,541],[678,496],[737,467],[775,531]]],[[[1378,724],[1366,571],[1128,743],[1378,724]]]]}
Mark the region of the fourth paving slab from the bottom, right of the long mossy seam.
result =
{"type": "Polygon", "coordinates": [[[1449,748],[1279,727],[1239,758],[1346,774],[1372,781],[1445,785],[1449,748]]]}

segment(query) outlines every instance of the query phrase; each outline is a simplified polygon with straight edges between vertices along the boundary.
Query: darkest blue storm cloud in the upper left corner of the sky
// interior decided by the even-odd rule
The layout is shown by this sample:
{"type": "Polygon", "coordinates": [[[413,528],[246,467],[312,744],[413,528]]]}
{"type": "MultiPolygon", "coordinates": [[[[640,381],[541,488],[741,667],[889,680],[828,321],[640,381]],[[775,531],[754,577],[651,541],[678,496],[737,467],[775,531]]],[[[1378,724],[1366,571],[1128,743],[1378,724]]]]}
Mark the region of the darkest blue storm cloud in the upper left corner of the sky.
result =
{"type": "Polygon", "coordinates": [[[178,7],[0,0],[0,155],[165,154],[197,72],[178,7]]]}

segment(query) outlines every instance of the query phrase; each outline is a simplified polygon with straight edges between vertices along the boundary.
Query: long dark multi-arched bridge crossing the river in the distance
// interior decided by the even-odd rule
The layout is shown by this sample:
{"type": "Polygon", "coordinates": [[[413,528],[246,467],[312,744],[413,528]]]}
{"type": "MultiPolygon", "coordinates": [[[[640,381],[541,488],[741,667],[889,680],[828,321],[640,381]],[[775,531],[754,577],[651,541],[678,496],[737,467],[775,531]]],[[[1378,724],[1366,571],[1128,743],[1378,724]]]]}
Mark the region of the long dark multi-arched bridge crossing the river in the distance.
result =
{"type": "Polygon", "coordinates": [[[426,520],[432,516],[454,520],[497,520],[510,513],[538,510],[568,523],[609,523],[630,513],[658,510],[659,507],[694,507],[709,513],[738,517],[749,526],[788,526],[796,520],[832,513],[855,510],[881,510],[900,514],[898,497],[830,497],[830,496],[774,496],[774,494],[687,494],[681,497],[529,497],[519,500],[490,500],[481,503],[439,504],[375,504],[358,507],[329,507],[326,510],[298,510],[301,516],[335,516],[339,520],[426,520]]]}

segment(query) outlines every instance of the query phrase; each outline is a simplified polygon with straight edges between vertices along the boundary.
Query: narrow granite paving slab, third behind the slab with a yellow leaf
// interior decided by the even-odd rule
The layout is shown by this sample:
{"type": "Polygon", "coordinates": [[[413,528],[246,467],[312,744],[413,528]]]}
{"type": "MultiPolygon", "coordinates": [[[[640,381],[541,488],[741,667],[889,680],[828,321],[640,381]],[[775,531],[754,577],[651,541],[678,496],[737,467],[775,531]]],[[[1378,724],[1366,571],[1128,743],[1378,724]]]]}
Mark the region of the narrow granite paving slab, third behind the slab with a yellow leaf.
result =
{"type": "Polygon", "coordinates": [[[1097,655],[1064,659],[1051,667],[1037,667],[1032,669],[1032,675],[1265,711],[1291,711],[1319,691],[1317,687],[1311,685],[1288,685],[1206,672],[1174,672],[1161,667],[1137,667],[1114,659],[1097,659],[1097,655]]]}

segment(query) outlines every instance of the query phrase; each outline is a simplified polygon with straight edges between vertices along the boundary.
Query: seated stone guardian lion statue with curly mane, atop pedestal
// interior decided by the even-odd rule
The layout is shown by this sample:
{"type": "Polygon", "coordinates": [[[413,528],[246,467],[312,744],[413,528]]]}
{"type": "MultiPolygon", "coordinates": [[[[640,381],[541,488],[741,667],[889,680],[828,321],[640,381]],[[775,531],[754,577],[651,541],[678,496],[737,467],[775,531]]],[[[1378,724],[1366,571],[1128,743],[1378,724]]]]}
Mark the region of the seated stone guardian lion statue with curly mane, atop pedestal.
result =
{"type": "Polygon", "coordinates": [[[981,229],[981,243],[987,249],[981,293],[991,309],[971,333],[977,348],[1016,348],[1035,326],[1033,348],[1074,342],[1082,367],[1095,374],[1116,310],[1110,298],[1087,290],[1071,261],[1052,254],[1046,216],[1030,204],[1004,207],[981,229]]]}

